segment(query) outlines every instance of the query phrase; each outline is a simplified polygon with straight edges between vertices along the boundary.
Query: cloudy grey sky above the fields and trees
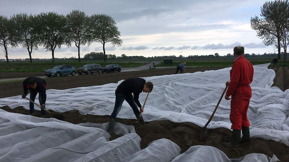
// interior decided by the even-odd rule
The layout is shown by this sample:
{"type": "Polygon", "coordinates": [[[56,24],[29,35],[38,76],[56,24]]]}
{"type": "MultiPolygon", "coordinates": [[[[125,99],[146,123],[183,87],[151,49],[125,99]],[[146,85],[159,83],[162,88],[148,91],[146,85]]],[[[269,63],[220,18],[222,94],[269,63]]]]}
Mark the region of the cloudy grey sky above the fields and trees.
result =
{"type": "MultiPolygon", "coordinates": [[[[266,47],[251,29],[251,17],[260,16],[261,0],[0,0],[0,15],[39,14],[54,11],[68,14],[72,10],[87,15],[108,14],[116,20],[123,44],[105,44],[106,54],[121,56],[169,56],[233,54],[242,45],[245,53],[275,52],[266,47]]],[[[82,46],[80,57],[90,52],[103,52],[102,44],[82,46]]],[[[29,58],[27,49],[8,49],[9,59],[29,58]]],[[[56,48],[54,57],[78,57],[77,47],[56,48]]],[[[0,59],[5,51],[0,47],[0,59]]],[[[52,58],[51,52],[39,47],[32,58],[52,58]]]]}

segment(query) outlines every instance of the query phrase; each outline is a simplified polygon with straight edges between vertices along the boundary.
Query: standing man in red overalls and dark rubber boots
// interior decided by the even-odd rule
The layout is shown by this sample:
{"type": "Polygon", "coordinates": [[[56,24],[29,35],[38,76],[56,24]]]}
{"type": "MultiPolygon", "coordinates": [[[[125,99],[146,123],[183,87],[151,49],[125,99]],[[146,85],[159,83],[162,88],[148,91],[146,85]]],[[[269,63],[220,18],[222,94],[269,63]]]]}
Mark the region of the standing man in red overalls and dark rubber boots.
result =
{"type": "Polygon", "coordinates": [[[226,100],[231,100],[230,121],[232,123],[231,142],[223,142],[224,146],[237,147],[239,143],[250,141],[249,120],[247,118],[247,111],[249,108],[252,90],[250,83],[253,81],[254,69],[252,64],[244,57],[244,47],[237,46],[234,48],[234,57],[232,70],[230,70],[230,82],[228,91],[225,95],[226,100]],[[241,137],[242,130],[242,138],[241,137]]]}

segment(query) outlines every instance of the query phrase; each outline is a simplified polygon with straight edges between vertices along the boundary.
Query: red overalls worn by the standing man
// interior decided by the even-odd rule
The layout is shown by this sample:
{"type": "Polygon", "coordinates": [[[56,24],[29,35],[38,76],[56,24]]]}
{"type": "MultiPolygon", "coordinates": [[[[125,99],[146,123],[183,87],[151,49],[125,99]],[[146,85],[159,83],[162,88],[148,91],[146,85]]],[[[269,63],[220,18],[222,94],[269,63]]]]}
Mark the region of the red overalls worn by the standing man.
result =
{"type": "Polygon", "coordinates": [[[250,83],[253,81],[254,69],[252,64],[244,58],[238,57],[230,70],[230,84],[226,96],[231,97],[230,121],[231,129],[241,130],[243,127],[249,127],[247,118],[252,90],[250,83]]]}

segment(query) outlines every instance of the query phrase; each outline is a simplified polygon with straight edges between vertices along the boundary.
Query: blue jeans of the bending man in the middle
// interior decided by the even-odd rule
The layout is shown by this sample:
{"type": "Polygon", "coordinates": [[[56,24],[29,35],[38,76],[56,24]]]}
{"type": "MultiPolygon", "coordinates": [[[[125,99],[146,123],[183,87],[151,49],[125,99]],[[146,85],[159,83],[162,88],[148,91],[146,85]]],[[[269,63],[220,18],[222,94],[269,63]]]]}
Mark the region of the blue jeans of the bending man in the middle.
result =
{"type": "MultiPolygon", "coordinates": [[[[139,118],[139,108],[137,107],[137,104],[134,102],[134,97],[132,96],[132,94],[129,95],[125,95],[120,93],[117,89],[116,89],[116,102],[114,105],[114,109],[113,112],[111,113],[111,117],[112,119],[115,119],[117,114],[119,113],[122,103],[124,102],[124,100],[126,100],[127,103],[129,103],[130,107],[132,108],[132,110],[134,111],[134,115],[137,117],[137,119],[139,118]]],[[[141,118],[141,120],[143,120],[141,118]]]]}

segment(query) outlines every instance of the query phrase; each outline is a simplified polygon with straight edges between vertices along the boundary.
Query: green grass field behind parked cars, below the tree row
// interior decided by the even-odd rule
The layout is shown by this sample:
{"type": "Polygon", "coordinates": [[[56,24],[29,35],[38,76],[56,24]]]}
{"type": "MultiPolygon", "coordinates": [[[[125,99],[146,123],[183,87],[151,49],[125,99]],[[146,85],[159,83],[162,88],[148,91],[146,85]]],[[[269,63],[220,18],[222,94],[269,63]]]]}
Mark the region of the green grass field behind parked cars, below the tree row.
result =
{"type": "Polygon", "coordinates": [[[78,67],[82,67],[83,65],[89,63],[100,64],[102,67],[105,67],[108,64],[118,64],[121,67],[140,67],[145,65],[145,63],[141,62],[97,62],[94,60],[85,60],[82,62],[68,61],[54,63],[46,61],[34,61],[32,63],[24,61],[10,61],[9,63],[0,62],[0,72],[43,72],[47,69],[55,67],[56,65],[71,65],[77,69],[78,67]]]}

